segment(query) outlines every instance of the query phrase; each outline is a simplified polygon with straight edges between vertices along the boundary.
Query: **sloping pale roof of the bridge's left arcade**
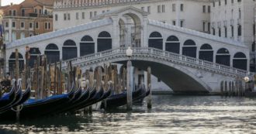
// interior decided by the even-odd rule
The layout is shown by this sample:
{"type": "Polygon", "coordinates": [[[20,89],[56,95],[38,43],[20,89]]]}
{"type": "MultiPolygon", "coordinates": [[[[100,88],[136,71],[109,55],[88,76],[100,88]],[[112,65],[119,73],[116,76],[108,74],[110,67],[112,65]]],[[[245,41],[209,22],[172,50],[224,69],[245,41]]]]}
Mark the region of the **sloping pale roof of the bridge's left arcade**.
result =
{"type": "Polygon", "coordinates": [[[16,40],[16,41],[13,41],[12,43],[7,43],[6,49],[12,49],[13,47],[16,47],[16,46],[26,46],[31,43],[38,43],[40,41],[57,38],[58,36],[66,36],[72,33],[78,33],[88,29],[95,29],[99,26],[106,26],[109,24],[112,24],[112,19],[101,19],[93,22],[88,22],[86,24],[73,26],[67,29],[60,29],[54,32],[40,34],[38,36],[31,36],[31,37],[23,38],[21,40],[16,40]]]}

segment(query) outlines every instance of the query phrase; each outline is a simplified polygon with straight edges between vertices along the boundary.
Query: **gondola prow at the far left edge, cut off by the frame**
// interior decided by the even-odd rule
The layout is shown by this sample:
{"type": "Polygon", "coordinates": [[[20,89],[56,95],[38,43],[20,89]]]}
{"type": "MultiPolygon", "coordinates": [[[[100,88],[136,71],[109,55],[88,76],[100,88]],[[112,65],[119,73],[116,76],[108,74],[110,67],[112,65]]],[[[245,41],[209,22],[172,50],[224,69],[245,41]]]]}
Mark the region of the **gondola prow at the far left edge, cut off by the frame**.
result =
{"type": "Polygon", "coordinates": [[[3,94],[2,98],[0,98],[0,110],[5,108],[8,105],[11,105],[13,101],[16,99],[16,88],[15,88],[15,80],[12,80],[12,88],[11,91],[7,94],[3,94]]]}

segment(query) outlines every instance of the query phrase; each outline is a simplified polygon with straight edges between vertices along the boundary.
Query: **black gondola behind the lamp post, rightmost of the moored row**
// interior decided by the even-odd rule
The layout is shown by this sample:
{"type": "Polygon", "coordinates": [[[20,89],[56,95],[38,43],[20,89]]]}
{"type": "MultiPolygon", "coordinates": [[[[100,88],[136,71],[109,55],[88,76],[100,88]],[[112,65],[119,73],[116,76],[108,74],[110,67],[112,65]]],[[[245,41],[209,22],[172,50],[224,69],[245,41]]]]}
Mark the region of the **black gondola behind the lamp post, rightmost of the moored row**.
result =
{"type": "MultiPolygon", "coordinates": [[[[133,91],[133,100],[139,98],[143,94],[143,88],[140,87],[136,91],[133,91]]],[[[122,105],[126,105],[127,103],[127,92],[123,92],[121,94],[111,95],[106,100],[102,101],[101,108],[117,108],[122,105]]]]}

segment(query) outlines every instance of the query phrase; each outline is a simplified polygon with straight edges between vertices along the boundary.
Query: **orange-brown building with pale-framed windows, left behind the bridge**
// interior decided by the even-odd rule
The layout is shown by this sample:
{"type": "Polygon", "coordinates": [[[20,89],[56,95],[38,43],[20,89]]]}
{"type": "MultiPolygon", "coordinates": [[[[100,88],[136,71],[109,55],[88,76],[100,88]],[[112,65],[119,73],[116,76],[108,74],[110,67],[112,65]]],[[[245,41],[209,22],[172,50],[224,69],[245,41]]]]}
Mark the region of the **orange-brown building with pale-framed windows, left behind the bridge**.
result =
{"type": "Polygon", "coordinates": [[[53,2],[51,0],[25,0],[19,5],[3,9],[5,43],[28,36],[51,32],[53,29],[53,2]]]}

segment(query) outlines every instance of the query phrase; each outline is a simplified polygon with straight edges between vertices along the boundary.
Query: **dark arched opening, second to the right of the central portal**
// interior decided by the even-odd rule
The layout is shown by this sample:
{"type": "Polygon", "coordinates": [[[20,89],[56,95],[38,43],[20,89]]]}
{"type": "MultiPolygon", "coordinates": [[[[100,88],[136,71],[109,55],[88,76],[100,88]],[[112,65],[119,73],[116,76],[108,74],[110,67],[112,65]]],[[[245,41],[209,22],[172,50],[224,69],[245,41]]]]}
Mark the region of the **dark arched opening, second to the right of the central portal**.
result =
{"type": "Polygon", "coordinates": [[[179,40],[176,36],[169,36],[165,43],[165,50],[172,53],[179,53],[179,40]]]}

